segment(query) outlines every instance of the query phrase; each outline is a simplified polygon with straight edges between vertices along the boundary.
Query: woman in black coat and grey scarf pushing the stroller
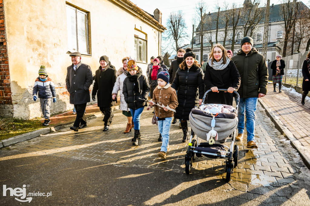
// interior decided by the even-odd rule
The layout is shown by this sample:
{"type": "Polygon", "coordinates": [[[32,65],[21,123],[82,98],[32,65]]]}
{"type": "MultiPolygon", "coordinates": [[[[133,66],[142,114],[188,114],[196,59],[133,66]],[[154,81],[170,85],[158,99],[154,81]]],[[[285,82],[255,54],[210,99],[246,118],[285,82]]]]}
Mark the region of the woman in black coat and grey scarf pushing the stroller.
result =
{"type": "Polygon", "coordinates": [[[240,75],[233,61],[227,56],[227,51],[221,44],[211,49],[211,56],[206,62],[204,83],[208,93],[208,104],[232,105],[232,92],[240,87],[240,75]],[[218,92],[218,89],[227,89],[228,92],[218,92]]]}

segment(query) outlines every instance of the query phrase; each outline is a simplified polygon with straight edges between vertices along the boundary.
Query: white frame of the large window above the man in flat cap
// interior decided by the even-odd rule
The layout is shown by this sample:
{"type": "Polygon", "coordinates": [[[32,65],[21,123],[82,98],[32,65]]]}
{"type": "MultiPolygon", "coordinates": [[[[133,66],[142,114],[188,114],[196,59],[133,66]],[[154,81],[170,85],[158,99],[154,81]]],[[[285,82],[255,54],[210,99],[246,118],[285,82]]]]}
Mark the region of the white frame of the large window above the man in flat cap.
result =
{"type": "MultiPolygon", "coordinates": [[[[80,52],[81,54],[90,54],[90,45],[89,45],[89,34],[88,34],[88,15],[89,13],[88,12],[85,12],[85,11],[82,11],[82,10],[79,10],[73,6],[70,6],[68,4],[66,4],[66,8],[70,8],[70,9],[73,9],[75,10],[75,28],[76,28],[76,36],[70,36],[70,33],[69,31],[67,31],[67,35],[68,35],[68,49],[70,52],[80,52]],[[79,35],[78,35],[78,12],[81,13],[81,14],[84,14],[86,17],[85,17],[85,22],[83,24],[85,24],[85,42],[82,42],[83,44],[86,44],[86,50],[81,50],[79,49],[79,41],[82,41],[81,38],[79,38],[79,35]],[[73,48],[73,47],[70,47],[69,45],[69,38],[75,38],[76,40],[76,47],[73,48]]],[[[68,15],[68,14],[67,14],[68,15]]],[[[67,16],[68,18],[68,16],[67,16]]],[[[67,19],[68,20],[68,19],[67,19]]],[[[69,27],[69,25],[67,25],[67,27],[69,27]]],[[[68,28],[69,30],[69,28],[68,28]]]]}

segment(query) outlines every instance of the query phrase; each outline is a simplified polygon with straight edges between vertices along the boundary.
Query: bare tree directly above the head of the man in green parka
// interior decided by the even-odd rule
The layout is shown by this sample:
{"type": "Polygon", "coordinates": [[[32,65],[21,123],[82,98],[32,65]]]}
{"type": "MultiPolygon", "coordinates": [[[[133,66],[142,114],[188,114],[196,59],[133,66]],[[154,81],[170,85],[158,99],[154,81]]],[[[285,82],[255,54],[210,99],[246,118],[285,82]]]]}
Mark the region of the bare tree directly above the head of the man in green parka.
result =
{"type": "Polygon", "coordinates": [[[265,7],[259,8],[260,0],[254,0],[248,8],[244,8],[242,15],[243,22],[243,36],[253,36],[254,28],[259,24],[260,20],[264,17],[263,12],[265,7]]]}

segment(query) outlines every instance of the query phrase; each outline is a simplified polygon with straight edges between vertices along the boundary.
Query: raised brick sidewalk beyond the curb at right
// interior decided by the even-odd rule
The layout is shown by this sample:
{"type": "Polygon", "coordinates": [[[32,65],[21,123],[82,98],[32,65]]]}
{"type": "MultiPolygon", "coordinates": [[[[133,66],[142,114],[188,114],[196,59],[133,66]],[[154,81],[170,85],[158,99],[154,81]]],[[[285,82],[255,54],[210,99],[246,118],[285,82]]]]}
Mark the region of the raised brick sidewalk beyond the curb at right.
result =
{"type": "Polygon", "coordinates": [[[302,105],[301,97],[285,90],[273,92],[272,84],[268,84],[268,93],[262,100],[294,137],[310,149],[310,103],[306,100],[302,105]]]}

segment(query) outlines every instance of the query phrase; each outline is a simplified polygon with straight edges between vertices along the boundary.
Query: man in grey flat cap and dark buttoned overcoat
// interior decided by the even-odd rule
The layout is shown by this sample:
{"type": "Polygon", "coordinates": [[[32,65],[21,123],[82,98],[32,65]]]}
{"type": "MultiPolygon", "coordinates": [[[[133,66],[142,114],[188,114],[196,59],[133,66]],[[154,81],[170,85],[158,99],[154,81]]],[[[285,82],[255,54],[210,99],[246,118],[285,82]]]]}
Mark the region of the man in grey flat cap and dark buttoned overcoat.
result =
{"type": "Polygon", "coordinates": [[[86,127],[85,109],[87,102],[91,101],[89,87],[93,83],[91,67],[81,62],[81,53],[73,52],[69,55],[72,65],[67,67],[66,86],[70,93],[70,104],[74,105],[77,112],[71,130],[78,131],[86,127]]]}

